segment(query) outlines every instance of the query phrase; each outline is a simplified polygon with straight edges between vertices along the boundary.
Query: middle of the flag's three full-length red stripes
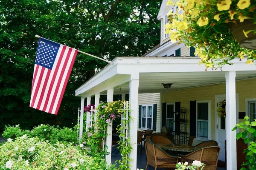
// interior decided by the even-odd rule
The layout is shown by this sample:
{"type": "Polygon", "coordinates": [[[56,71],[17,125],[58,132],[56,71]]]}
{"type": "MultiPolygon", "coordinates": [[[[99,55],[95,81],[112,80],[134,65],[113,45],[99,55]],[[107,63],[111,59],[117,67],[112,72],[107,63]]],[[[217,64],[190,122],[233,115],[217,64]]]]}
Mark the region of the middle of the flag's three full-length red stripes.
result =
{"type": "Polygon", "coordinates": [[[55,102],[58,102],[58,100],[59,100],[59,99],[56,98],[56,96],[57,96],[57,94],[58,94],[59,87],[60,87],[60,84],[61,84],[61,80],[62,80],[62,78],[63,78],[65,69],[66,69],[66,67],[67,67],[67,62],[68,62],[68,60],[69,60],[69,58],[70,58],[70,54],[71,54],[71,51],[72,51],[72,50],[73,50],[73,49],[70,48],[70,49],[68,50],[68,52],[67,52],[67,57],[66,57],[66,59],[65,59],[64,65],[63,65],[62,70],[61,70],[60,77],[58,78],[58,82],[57,82],[57,85],[56,85],[56,89],[55,89],[55,91],[54,91],[54,95],[53,95],[53,97],[52,97],[53,101],[51,102],[51,105],[50,105],[50,108],[49,108],[49,113],[52,113],[53,105],[55,104],[55,102]]]}

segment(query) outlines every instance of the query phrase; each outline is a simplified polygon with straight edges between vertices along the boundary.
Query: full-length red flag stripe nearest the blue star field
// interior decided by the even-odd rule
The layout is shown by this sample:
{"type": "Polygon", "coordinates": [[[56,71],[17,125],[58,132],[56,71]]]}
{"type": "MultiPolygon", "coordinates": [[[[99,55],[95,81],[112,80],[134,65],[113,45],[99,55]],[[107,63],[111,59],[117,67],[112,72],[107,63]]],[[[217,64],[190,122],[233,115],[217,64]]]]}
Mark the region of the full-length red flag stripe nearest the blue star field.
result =
{"type": "MultiPolygon", "coordinates": [[[[67,46],[63,45],[63,48],[62,48],[62,51],[61,51],[61,54],[60,54],[58,63],[57,63],[57,65],[56,65],[55,71],[54,71],[53,76],[52,76],[52,81],[51,81],[51,84],[50,84],[50,87],[49,87],[49,91],[48,91],[48,93],[47,93],[47,97],[46,97],[46,100],[45,100],[45,103],[44,103],[44,108],[43,108],[43,111],[44,111],[44,112],[45,112],[45,110],[46,110],[46,108],[47,108],[47,105],[48,105],[48,102],[49,102],[49,97],[50,97],[50,94],[51,94],[51,92],[52,92],[52,86],[53,86],[53,84],[54,84],[54,82],[55,82],[56,75],[57,75],[58,69],[59,69],[59,67],[60,67],[60,65],[61,65],[61,60],[62,60],[62,58],[63,58],[63,55],[64,55],[64,52],[65,52],[66,48],[67,48],[67,46]]],[[[58,77],[57,77],[57,79],[58,79],[58,77]]]]}

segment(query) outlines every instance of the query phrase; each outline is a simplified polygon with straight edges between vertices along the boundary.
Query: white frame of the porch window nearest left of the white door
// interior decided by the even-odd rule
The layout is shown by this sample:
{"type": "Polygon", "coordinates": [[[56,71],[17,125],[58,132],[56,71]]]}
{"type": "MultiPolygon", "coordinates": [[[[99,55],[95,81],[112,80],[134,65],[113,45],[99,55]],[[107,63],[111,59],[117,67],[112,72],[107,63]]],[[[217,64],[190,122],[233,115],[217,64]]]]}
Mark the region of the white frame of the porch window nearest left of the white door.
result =
{"type": "Polygon", "coordinates": [[[207,141],[211,139],[211,105],[212,105],[212,101],[211,100],[201,100],[201,101],[196,101],[196,132],[195,132],[195,139],[199,140],[199,141],[207,141]],[[198,103],[208,103],[208,120],[201,120],[198,119],[198,103]],[[198,137],[197,133],[198,133],[198,120],[199,121],[205,121],[208,122],[208,129],[207,129],[207,134],[208,137],[204,138],[204,137],[198,137]]]}

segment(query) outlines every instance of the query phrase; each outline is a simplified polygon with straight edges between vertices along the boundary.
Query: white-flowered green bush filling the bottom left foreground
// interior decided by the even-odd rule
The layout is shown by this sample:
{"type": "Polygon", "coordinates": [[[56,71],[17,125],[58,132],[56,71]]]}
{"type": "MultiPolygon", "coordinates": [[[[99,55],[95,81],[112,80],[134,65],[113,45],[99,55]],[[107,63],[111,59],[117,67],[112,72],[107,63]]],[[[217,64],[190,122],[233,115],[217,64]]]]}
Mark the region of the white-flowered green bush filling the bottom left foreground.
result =
{"type": "Polygon", "coordinates": [[[114,170],[71,144],[50,144],[26,135],[0,146],[1,170],[114,170]]]}

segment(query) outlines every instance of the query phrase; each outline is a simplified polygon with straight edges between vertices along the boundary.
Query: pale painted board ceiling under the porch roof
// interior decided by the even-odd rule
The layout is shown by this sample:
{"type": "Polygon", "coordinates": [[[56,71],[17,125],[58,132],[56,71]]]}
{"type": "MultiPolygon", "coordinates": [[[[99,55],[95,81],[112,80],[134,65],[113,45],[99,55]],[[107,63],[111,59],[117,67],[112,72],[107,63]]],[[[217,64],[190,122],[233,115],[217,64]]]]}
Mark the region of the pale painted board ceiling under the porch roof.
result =
{"type": "MultiPolygon", "coordinates": [[[[255,71],[237,71],[236,80],[256,78],[255,71]]],[[[225,72],[190,72],[190,73],[140,73],[139,93],[159,93],[204,85],[214,85],[225,82],[225,72]],[[172,83],[169,89],[163,88],[163,83],[172,83]]],[[[106,92],[102,92],[105,94],[106,92]]],[[[128,94],[129,84],[114,89],[114,94],[128,94]],[[121,90],[120,90],[121,88],[121,90]]]]}

